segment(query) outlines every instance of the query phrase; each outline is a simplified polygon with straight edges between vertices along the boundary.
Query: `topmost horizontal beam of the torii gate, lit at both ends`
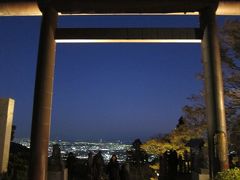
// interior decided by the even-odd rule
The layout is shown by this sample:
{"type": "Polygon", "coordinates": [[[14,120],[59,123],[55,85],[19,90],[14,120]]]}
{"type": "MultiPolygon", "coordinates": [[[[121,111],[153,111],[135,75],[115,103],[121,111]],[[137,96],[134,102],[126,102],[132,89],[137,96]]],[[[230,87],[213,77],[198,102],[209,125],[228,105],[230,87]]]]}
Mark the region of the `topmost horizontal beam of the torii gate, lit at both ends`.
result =
{"type": "Polygon", "coordinates": [[[210,6],[217,15],[240,15],[239,0],[0,0],[0,16],[41,16],[45,6],[59,15],[198,15],[210,6]]]}

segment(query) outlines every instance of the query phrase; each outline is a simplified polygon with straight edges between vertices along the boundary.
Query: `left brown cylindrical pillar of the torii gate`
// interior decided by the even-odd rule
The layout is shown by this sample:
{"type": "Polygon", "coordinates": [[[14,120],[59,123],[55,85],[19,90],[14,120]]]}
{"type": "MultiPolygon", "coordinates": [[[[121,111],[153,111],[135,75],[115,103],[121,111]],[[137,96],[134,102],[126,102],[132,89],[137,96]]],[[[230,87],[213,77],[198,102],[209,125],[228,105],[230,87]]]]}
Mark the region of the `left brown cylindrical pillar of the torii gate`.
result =
{"type": "Polygon", "coordinates": [[[46,180],[48,172],[56,49],[54,36],[58,15],[55,9],[49,7],[44,8],[42,13],[32,115],[29,180],[46,180]]]}

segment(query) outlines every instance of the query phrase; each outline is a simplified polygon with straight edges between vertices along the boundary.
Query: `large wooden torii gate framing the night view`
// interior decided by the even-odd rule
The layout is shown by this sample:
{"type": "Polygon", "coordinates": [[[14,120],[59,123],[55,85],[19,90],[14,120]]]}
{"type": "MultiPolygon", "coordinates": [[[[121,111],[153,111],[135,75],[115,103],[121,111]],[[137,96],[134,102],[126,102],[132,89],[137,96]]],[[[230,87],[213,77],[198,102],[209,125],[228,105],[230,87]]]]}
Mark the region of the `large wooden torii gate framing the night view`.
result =
{"type": "Polygon", "coordinates": [[[0,0],[0,16],[42,16],[31,132],[30,180],[46,180],[56,42],[202,44],[210,176],[228,168],[215,15],[240,15],[239,0],[0,0]],[[59,29],[58,15],[199,15],[199,28],[59,29]]]}

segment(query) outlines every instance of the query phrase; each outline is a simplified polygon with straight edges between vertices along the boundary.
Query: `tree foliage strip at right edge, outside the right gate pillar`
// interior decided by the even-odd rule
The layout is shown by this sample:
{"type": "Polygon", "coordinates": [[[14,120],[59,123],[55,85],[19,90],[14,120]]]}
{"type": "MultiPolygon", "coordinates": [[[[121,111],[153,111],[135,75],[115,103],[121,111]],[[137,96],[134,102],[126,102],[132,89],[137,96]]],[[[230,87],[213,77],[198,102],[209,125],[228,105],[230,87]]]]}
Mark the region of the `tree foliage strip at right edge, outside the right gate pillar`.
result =
{"type": "Polygon", "coordinates": [[[225,107],[230,150],[240,154],[240,21],[226,21],[222,31],[225,107]]]}

